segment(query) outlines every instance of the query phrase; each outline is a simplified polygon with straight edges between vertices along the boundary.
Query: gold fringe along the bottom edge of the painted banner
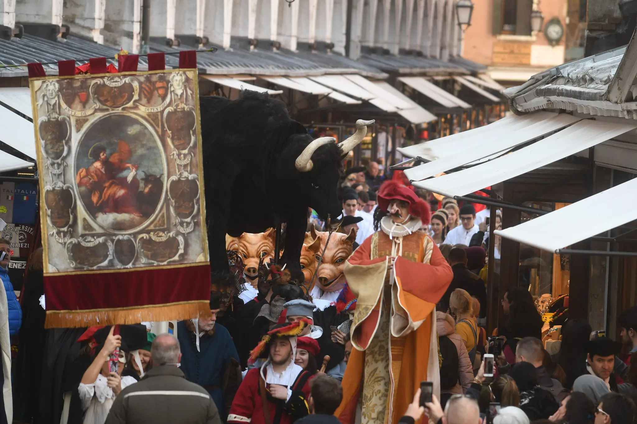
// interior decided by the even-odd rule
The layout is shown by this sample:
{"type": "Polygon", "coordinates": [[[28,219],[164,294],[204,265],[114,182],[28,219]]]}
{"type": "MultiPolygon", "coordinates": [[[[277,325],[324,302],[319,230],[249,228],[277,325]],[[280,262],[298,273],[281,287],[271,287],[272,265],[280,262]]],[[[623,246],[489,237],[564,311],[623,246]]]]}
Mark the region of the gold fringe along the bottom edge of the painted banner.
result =
{"type": "Polygon", "coordinates": [[[146,321],[189,320],[210,316],[210,301],[190,301],[131,308],[82,311],[47,311],[45,328],[94,327],[97,325],[140,324],[146,321]]]}

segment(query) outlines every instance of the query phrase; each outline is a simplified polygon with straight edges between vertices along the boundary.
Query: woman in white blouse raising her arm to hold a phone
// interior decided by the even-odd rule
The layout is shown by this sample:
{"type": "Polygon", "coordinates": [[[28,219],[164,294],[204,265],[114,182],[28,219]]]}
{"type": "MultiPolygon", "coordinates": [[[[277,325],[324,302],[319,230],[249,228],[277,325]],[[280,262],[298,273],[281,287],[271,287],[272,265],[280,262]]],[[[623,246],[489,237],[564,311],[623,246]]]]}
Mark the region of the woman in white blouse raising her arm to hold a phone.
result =
{"type": "Polygon", "coordinates": [[[104,424],[115,397],[125,387],[136,383],[131,376],[120,377],[126,364],[127,352],[125,351],[128,348],[125,345],[122,346],[122,336],[113,335],[114,328],[115,326],[112,325],[104,346],[97,352],[78,387],[84,412],[84,424],[104,424]],[[120,355],[116,374],[110,373],[108,360],[117,348],[120,348],[120,355]]]}

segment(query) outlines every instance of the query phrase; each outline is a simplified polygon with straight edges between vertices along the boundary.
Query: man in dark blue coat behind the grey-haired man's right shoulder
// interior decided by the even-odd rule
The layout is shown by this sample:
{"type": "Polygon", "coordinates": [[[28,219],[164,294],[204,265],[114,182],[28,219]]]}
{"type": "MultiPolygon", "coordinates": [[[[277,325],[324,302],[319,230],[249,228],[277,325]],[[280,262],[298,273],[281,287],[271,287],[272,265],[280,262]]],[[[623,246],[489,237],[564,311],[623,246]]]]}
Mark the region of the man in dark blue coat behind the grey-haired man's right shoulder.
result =
{"type": "Polygon", "coordinates": [[[223,378],[228,367],[240,371],[240,366],[230,333],[223,325],[216,324],[219,303],[220,296],[211,294],[210,317],[178,322],[177,338],[182,348],[180,369],[186,380],[203,386],[215,401],[219,416],[225,418],[227,393],[222,390],[223,378]]]}

